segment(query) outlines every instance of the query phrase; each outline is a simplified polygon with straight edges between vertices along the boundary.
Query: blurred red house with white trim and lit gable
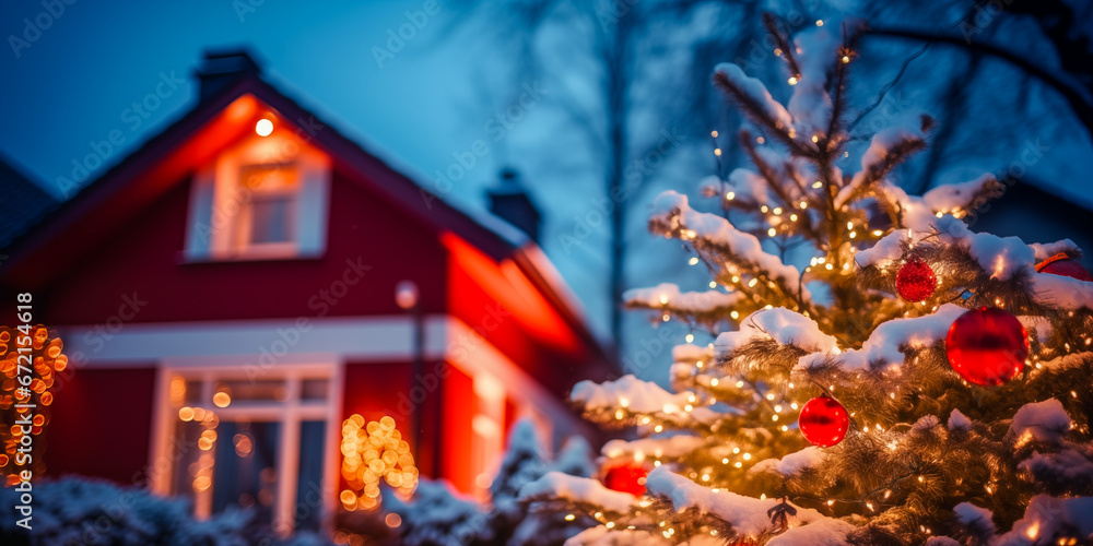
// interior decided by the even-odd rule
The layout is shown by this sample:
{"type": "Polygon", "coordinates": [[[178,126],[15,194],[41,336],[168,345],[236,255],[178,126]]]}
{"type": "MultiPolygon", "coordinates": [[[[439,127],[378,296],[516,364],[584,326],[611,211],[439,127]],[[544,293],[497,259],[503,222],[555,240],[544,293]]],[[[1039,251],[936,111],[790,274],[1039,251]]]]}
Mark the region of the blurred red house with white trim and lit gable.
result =
{"type": "Polygon", "coordinates": [[[245,54],[198,75],[189,112],[2,251],[3,301],[33,294],[69,357],[49,475],[291,530],[373,506],[380,477],[480,490],[521,416],[555,442],[591,434],[565,393],[618,369],[532,240],[428,193],[245,54]]]}

